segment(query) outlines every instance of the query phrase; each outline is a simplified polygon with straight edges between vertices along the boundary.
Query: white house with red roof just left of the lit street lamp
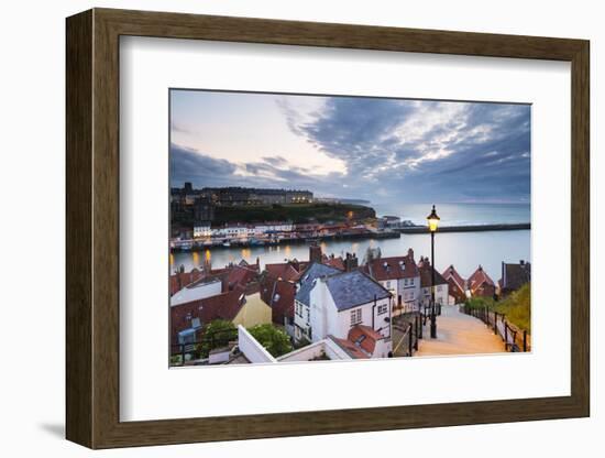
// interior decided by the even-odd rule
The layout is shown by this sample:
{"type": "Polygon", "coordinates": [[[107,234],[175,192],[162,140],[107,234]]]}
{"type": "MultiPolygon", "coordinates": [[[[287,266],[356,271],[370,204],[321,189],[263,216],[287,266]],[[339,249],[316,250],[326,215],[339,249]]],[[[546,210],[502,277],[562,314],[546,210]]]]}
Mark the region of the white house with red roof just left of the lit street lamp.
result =
{"type": "Polygon", "coordinates": [[[372,259],[364,265],[364,271],[393,294],[397,314],[418,309],[420,272],[414,260],[414,250],[409,249],[404,257],[372,259]]]}

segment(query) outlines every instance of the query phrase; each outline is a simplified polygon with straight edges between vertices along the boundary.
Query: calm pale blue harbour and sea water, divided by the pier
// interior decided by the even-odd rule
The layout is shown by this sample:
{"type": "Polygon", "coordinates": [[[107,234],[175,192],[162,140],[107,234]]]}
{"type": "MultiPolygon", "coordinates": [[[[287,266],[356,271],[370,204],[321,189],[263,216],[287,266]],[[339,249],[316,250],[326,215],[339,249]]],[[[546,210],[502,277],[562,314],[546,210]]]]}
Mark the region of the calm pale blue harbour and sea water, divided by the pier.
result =
{"type": "MultiPolygon", "coordinates": [[[[417,225],[426,223],[431,210],[430,205],[383,205],[372,204],[380,216],[398,216],[417,225]]],[[[527,204],[437,204],[437,212],[442,226],[495,225],[530,222],[530,206],[527,204]]],[[[344,257],[355,253],[363,261],[369,248],[380,248],[382,257],[406,254],[414,250],[416,260],[421,255],[430,257],[430,236],[402,235],[399,239],[339,240],[321,242],[326,254],[344,257]]],[[[212,248],[200,252],[179,252],[170,254],[170,271],[180,265],[186,270],[204,264],[210,259],[213,268],[221,268],[242,259],[249,263],[258,259],[261,266],[266,263],[285,260],[309,259],[309,247],[306,243],[280,244],[273,247],[250,248],[212,248]]],[[[479,265],[497,281],[502,273],[502,262],[516,263],[520,260],[531,261],[531,231],[485,231],[485,232],[437,232],[435,239],[435,264],[440,272],[454,265],[464,277],[470,276],[479,265]]]]}

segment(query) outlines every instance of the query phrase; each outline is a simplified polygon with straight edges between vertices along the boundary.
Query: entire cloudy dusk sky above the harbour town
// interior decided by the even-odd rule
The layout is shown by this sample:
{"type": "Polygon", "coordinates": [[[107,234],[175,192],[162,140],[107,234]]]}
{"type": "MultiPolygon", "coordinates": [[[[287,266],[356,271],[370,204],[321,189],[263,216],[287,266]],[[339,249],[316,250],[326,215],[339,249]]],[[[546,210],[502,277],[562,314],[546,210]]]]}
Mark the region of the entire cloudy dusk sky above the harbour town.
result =
{"type": "Polygon", "coordinates": [[[170,186],[529,203],[529,105],[170,90],[170,186]]]}

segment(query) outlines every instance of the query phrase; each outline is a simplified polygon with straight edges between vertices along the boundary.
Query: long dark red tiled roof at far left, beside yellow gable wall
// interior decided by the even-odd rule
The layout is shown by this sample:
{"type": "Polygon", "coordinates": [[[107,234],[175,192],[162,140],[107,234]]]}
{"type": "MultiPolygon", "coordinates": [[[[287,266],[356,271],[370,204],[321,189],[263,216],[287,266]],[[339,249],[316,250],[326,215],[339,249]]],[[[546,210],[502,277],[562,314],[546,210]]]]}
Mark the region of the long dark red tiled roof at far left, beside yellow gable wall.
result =
{"type": "Polygon", "coordinates": [[[170,336],[173,342],[177,342],[179,331],[191,327],[193,318],[199,318],[202,326],[215,319],[231,321],[243,304],[245,304],[244,292],[242,288],[235,288],[216,296],[170,307],[170,336]]]}

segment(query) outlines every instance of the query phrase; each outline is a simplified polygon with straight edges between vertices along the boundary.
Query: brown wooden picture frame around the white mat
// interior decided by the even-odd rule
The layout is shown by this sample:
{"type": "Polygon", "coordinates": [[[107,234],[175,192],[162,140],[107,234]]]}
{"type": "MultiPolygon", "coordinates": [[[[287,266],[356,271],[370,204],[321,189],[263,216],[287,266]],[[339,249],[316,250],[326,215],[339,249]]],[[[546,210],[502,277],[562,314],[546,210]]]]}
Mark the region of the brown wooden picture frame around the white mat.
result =
{"type": "Polygon", "coordinates": [[[590,414],[588,42],[94,9],[67,19],[66,436],[91,448],[583,417],[590,414]],[[140,35],[571,63],[571,395],[120,422],[119,37],[140,35]]]}

